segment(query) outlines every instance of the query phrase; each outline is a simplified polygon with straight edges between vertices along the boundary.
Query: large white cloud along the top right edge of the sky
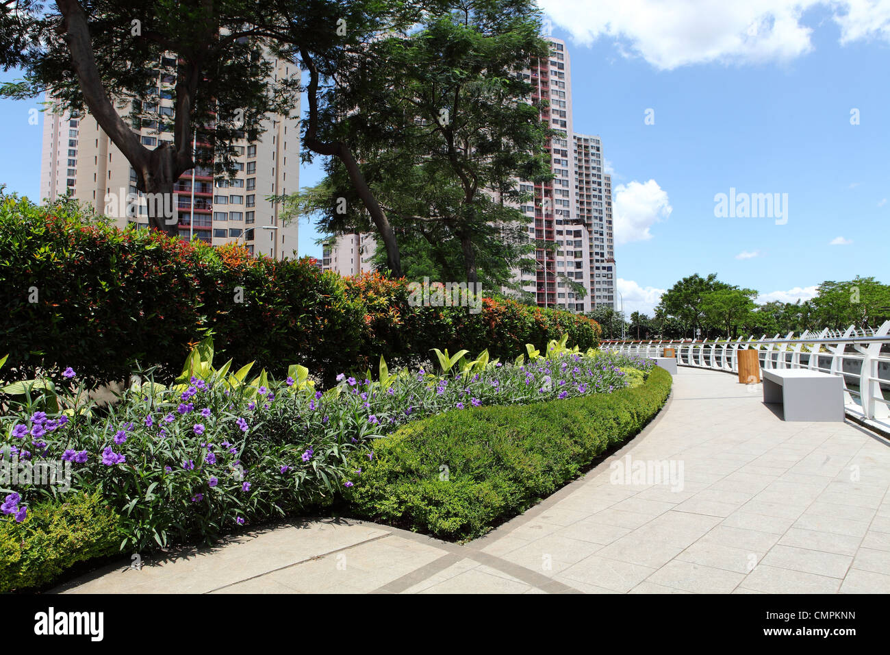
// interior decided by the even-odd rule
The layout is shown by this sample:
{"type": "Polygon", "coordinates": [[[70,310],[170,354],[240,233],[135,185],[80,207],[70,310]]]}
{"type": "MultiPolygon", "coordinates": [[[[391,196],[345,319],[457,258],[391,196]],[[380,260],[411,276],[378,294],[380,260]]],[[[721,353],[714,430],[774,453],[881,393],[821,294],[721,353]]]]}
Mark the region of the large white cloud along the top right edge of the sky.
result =
{"type": "Polygon", "coordinates": [[[840,43],[890,41],[890,0],[539,0],[551,20],[579,44],[600,37],[623,56],[641,56],[672,70],[707,63],[790,61],[813,50],[813,29],[801,22],[814,6],[828,8],[840,43]]]}

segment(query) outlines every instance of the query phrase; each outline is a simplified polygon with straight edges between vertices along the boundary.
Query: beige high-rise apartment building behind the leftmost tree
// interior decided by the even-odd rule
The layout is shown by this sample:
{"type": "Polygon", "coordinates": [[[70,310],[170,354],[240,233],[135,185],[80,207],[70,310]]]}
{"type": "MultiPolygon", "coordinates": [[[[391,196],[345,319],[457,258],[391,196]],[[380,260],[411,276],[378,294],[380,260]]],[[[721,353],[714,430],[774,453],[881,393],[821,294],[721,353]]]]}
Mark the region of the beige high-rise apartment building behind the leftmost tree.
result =
{"type": "MultiPolygon", "coordinates": [[[[143,120],[138,129],[142,144],[149,148],[173,142],[176,78],[164,69],[175,63],[172,57],[158,62],[154,100],[146,102],[144,108],[157,113],[158,120],[143,120]]],[[[299,68],[287,61],[279,61],[273,72],[276,78],[299,74],[299,68]]],[[[52,98],[47,100],[52,102],[52,98]]],[[[299,116],[298,107],[292,116],[299,116]]],[[[182,238],[194,235],[214,246],[237,242],[271,258],[295,256],[297,223],[283,225],[279,220],[281,208],[266,198],[299,188],[300,123],[298,118],[272,115],[263,127],[266,129],[259,140],[234,144],[238,154],[231,179],[214,179],[214,171],[208,166],[197,166],[180,176],[174,185],[171,209],[182,238]]],[[[208,143],[212,138],[213,126],[198,130],[196,149],[212,148],[208,143]]],[[[119,227],[147,226],[148,205],[136,191],[136,179],[130,162],[91,115],[45,112],[41,198],[68,193],[113,217],[119,227]]]]}

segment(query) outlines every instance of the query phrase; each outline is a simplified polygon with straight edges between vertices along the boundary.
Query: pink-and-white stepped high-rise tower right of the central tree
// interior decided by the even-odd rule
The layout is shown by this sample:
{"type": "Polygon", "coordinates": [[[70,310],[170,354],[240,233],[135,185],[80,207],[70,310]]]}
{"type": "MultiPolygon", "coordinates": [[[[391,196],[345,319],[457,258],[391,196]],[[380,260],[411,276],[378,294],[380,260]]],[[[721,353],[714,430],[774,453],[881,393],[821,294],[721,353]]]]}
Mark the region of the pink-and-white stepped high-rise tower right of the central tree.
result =
{"type": "MultiPolygon", "coordinates": [[[[515,279],[540,307],[573,312],[589,312],[597,305],[614,307],[611,177],[603,173],[603,144],[599,136],[575,133],[569,52],[561,39],[546,40],[549,58],[517,75],[533,87],[531,102],[549,103],[542,119],[555,130],[547,143],[554,179],[544,184],[518,181],[520,190],[532,199],[518,209],[528,217],[529,238],[551,248],[536,250],[536,270],[524,274],[515,270],[515,279]]],[[[373,251],[374,241],[367,234],[337,236],[326,245],[322,265],[341,274],[360,273],[362,260],[355,255],[359,245],[363,251],[373,251]]]]}

